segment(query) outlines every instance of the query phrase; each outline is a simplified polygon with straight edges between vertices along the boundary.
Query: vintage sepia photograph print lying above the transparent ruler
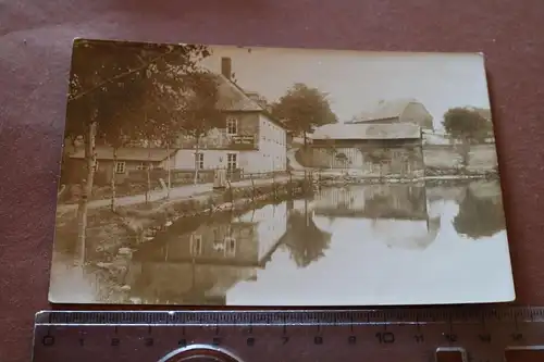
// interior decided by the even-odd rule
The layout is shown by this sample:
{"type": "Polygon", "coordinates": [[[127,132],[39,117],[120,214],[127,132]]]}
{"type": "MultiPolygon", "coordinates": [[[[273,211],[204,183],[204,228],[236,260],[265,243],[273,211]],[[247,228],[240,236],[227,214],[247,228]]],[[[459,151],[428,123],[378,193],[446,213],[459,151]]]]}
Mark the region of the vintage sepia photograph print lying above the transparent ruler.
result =
{"type": "Polygon", "coordinates": [[[51,302],[514,299],[482,54],[74,41],[51,302]]]}

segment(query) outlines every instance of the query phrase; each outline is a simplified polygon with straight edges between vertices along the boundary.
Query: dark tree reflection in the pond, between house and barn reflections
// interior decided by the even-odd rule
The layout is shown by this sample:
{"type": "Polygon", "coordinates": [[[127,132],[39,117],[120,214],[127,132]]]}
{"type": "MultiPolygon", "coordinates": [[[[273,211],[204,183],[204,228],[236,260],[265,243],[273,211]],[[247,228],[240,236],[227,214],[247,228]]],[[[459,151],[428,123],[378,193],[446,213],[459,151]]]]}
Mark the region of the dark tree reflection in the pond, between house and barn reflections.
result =
{"type": "Polygon", "coordinates": [[[297,266],[306,267],[324,255],[331,242],[331,234],[318,228],[306,203],[304,211],[290,212],[283,240],[297,266]]]}

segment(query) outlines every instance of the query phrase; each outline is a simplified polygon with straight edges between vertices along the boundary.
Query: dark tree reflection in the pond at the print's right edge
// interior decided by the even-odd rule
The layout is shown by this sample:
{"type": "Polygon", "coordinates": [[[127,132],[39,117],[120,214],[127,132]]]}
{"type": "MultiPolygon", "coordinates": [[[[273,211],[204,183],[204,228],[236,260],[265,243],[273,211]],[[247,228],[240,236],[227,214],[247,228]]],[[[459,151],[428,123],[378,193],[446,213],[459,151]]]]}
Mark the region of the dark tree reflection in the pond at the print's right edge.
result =
{"type": "Polygon", "coordinates": [[[455,230],[472,239],[492,236],[505,229],[505,216],[500,197],[479,198],[467,189],[454,219],[455,230]]]}

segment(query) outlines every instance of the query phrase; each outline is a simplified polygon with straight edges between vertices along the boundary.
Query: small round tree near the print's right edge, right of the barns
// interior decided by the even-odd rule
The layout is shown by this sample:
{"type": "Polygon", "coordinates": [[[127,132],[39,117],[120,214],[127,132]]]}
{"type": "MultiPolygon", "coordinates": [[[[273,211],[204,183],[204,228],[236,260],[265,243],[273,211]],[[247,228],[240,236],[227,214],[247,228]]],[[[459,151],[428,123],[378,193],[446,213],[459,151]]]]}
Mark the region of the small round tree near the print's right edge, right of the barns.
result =
{"type": "Polygon", "coordinates": [[[461,142],[460,152],[462,165],[469,163],[470,145],[483,141],[493,128],[481,110],[469,108],[453,108],[444,114],[443,125],[449,137],[461,142]]]}

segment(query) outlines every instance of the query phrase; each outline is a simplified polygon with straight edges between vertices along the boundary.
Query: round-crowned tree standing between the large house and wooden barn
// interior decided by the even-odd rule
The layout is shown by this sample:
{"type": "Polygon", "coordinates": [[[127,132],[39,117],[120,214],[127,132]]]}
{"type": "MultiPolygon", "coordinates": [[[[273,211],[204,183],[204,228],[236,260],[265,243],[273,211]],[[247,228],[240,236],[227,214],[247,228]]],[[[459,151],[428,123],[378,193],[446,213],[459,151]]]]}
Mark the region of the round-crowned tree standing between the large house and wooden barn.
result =
{"type": "Polygon", "coordinates": [[[331,110],[327,95],[317,88],[297,83],[271,108],[276,118],[285,122],[287,128],[301,134],[307,146],[307,135],[313,128],[338,122],[331,110]]]}

